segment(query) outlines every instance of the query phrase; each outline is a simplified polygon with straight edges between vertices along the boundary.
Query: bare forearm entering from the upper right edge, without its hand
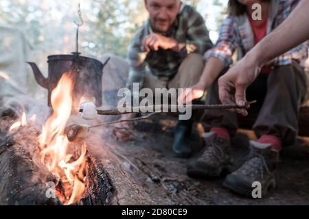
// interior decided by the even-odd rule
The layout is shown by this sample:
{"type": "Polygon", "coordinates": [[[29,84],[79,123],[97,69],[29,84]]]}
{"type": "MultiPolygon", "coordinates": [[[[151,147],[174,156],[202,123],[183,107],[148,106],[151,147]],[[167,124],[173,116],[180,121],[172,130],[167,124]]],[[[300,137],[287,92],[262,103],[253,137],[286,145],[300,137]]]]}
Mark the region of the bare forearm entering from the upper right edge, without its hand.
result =
{"type": "Polygon", "coordinates": [[[309,39],[309,1],[301,1],[297,8],[271,34],[266,36],[246,56],[255,57],[258,66],[293,49],[309,39]]]}

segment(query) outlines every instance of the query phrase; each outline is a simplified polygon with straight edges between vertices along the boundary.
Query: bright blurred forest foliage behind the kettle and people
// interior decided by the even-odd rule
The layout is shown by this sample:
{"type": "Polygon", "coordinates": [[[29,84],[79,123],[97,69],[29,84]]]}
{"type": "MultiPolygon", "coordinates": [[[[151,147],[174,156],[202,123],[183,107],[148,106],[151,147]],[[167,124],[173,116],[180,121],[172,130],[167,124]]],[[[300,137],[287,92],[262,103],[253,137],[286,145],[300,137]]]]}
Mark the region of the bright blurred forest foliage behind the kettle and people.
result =
{"type": "MultiPolygon", "coordinates": [[[[221,11],[223,0],[184,0],[200,7],[205,18],[205,4],[215,5],[221,11]],[[211,3],[209,3],[211,2],[211,3]]],[[[1,0],[0,25],[22,29],[34,48],[34,60],[55,53],[76,50],[78,3],[84,25],[80,28],[79,50],[84,55],[100,57],[102,53],[115,53],[125,57],[128,44],[137,28],[147,19],[144,0],[1,0]]],[[[215,18],[217,31],[222,16],[215,18]]],[[[212,25],[212,23],[211,23],[212,25]]],[[[45,61],[45,60],[44,60],[45,61]]]]}

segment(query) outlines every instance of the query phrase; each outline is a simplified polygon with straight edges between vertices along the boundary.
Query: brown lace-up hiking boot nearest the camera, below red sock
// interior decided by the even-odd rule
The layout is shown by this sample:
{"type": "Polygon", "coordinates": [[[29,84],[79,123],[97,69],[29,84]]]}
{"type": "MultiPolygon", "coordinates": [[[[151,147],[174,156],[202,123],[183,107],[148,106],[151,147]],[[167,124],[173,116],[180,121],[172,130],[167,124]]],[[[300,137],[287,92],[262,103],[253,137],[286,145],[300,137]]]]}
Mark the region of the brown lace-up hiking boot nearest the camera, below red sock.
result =
{"type": "Polygon", "coordinates": [[[253,190],[260,182],[262,197],[266,196],[271,188],[275,188],[274,171],[279,162],[279,152],[271,150],[271,144],[262,144],[251,141],[251,152],[244,164],[225,178],[225,188],[253,198],[253,190]]]}

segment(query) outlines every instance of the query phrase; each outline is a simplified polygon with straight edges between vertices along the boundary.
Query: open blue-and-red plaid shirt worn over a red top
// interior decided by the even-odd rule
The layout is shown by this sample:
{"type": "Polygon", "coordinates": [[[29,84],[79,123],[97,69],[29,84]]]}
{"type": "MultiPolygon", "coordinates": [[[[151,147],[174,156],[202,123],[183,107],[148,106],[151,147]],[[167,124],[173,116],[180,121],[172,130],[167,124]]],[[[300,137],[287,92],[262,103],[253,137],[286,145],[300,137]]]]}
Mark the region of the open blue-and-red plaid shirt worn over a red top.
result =
{"type": "MultiPolygon", "coordinates": [[[[292,12],[299,0],[272,0],[267,21],[267,34],[278,27],[292,12]]],[[[304,21],[306,22],[306,21],[304,21]]],[[[296,24],[295,24],[296,25],[296,24]]],[[[293,33],[291,33],[293,34],[293,33]]],[[[284,40],[284,39],[282,39],[284,40]]],[[[240,60],[250,49],[254,47],[254,36],[246,14],[241,16],[227,16],[220,27],[220,34],[216,46],[205,53],[206,59],[218,57],[225,62],[225,66],[231,64],[231,56],[238,49],[240,60]]],[[[273,60],[276,66],[291,64],[293,60],[304,62],[308,57],[308,42],[304,42],[290,51],[279,55],[273,60]]]]}

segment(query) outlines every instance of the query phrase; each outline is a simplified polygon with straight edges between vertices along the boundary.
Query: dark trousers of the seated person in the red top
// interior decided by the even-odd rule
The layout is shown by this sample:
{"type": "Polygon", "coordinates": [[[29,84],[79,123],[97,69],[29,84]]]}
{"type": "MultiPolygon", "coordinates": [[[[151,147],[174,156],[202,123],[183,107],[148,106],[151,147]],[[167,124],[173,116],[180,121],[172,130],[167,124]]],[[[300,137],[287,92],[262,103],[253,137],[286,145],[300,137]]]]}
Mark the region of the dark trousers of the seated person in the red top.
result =
{"type": "MultiPolygon", "coordinates": [[[[224,74],[226,70],[222,73],[224,74]]],[[[221,75],[222,75],[221,74],[221,75]]],[[[247,88],[247,100],[257,100],[251,105],[249,116],[254,112],[258,118],[253,131],[258,138],[274,135],[282,144],[294,144],[298,133],[298,116],[301,103],[307,99],[308,79],[299,64],[276,66],[269,75],[260,75],[247,88]]],[[[220,104],[218,98],[218,79],[207,90],[206,104],[220,104]]],[[[228,110],[206,110],[203,122],[206,130],[223,127],[233,136],[238,129],[236,113],[228,110]]]]}

